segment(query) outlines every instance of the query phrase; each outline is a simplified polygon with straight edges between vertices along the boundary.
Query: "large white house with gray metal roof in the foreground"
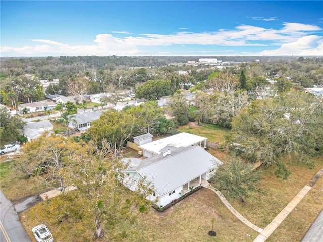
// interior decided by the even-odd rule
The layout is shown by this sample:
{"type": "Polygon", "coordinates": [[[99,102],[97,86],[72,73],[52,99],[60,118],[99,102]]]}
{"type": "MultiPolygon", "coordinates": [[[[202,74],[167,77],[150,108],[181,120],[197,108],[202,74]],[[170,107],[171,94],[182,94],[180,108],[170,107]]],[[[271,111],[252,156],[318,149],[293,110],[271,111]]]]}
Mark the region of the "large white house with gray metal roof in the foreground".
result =
{"type": "Polygon", "coordinates": [[[147,199],[165,206],[205,184],[214,169],[222,162],[199,146],[180,147],[140,160],[124,158],[129,162],[123,170],[124,185],[135,191],[137,181],[144,179],[152,184],[152,193],[147,199]]]}

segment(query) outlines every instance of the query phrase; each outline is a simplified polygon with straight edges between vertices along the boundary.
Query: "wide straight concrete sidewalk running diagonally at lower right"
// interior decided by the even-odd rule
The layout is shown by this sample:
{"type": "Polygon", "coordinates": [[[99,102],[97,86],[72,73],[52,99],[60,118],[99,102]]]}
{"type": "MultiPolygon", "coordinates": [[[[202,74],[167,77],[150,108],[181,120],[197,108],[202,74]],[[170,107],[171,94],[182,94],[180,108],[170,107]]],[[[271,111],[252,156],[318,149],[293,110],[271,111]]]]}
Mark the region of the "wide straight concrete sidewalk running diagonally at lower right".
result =
{"type": "Polygon", "coordinates": [[[312,189],[316,181],[323,175],[323,168],[307,183],[307,185],[290,201],[289,204],[274,218],[274,220],[263,229],[263,231],[253,240],[253,242],[265,241],[284,219],[293,211],[297,204],[312,189]]]}

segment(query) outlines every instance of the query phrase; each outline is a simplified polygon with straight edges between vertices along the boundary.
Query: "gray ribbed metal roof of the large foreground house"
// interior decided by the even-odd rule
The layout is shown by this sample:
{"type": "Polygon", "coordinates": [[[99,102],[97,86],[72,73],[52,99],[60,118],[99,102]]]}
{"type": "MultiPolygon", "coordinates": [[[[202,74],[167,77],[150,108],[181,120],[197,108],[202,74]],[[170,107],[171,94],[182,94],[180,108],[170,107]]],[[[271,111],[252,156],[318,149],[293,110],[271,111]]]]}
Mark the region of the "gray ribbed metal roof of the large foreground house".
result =
{"type": "Polygon", "coordinates": [[[203,148],[190,146],[180,147],[165,157],[158,154],[142,160],[139,166],[132,166],[128,171],[136,171],[146,177],[147,181],[154,184],[156,192],[163,196],[218,164],[222,162],[203,148]]]}

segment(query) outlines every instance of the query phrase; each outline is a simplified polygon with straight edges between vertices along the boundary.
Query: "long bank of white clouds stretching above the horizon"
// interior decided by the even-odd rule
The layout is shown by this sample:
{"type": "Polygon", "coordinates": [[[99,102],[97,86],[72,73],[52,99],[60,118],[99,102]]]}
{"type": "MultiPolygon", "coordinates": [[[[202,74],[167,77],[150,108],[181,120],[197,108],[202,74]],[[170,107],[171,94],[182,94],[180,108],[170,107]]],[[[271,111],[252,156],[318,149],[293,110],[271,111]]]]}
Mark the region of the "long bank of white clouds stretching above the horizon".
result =
{"type": "MultiPolygon", "coordinates": [[[[140,34],[139,36],[126,36],[122,38],[117,38],[112,34],[98,34],[96,35],[95,40],[93,40],[92,45],[70,46],[52,40],[32,39],[32,43],[38,42],[44,44],[24,46],[21,48],[4,46],[0,48],[0,53],[2,56],[131,56],[142,53],[150,55],[151,53],[147,52],[146,49],[150,47],[149,51],[151,51],[154,46],[164,47],[165,51],[163,53],[166,54],[174,51],[174,47],[172,47],[172,50],[167,48],[167,46],[171,45],[178,45],[179,47],[185,46],[186,48],[193,45],[203,45],[205,51],[208,51],[208,48],[211,49],[212,46],[227,46],[225,49],[219,47],[219,51],[230,51],[230,46],[240,46],[240,53],[243,53],[244,46],[263,46],[263,49],[267,48],[267,46],[277,46],[276,50],[263,50],[260,54],[309,55],[304,53],[311,53],[311,55],[323,55],[322,36],[311,35],[311,33],[320,30],[321,28],[315,25],[284,23],[283,27],[278,30],[251,25],[239,25],[231,30],[221,29],[217,32],[206,33],[193,33],[187,31],[169,35],[145,33],[140,34]]],[[[114,31],[113,33],[131,34],[126,31],[114,31]]],[[[193,47],[191,52],[198,53],[198,51],[193,50],[193,47]]],[[[156,52],[159,52],[159,50],[156,52]]],[[[250,53],[248,52],[248,54],[250,53]]]]}

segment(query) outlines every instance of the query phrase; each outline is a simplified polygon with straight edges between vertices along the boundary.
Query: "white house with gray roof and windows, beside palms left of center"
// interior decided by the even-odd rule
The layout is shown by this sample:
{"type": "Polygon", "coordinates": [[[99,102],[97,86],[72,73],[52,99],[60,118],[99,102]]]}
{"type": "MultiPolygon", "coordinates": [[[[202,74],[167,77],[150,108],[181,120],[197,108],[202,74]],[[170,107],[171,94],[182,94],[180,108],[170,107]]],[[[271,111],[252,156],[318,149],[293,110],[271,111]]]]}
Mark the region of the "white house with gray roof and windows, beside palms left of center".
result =
{"type": "Polygon", "coordinates": [[[102,111],[95,112],[84,112],[69,115],[68,117],[72,117],[69,122],[69,127],[76,128],[78,130],[86,130],[91,127],[91,122],[100,118],[102,111]]]}

